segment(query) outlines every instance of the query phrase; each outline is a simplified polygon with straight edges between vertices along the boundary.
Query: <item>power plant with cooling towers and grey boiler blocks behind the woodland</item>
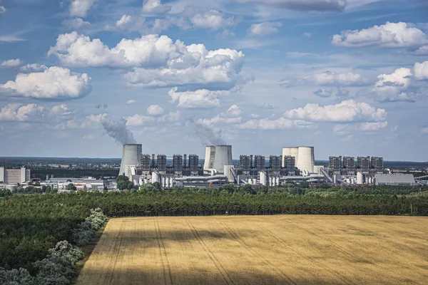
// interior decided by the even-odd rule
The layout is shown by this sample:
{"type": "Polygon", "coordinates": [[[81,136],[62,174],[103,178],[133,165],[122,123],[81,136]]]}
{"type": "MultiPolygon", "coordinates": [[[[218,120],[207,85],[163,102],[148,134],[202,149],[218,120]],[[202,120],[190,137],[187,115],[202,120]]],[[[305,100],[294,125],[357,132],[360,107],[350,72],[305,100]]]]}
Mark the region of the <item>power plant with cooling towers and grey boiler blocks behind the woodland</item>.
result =
{"type": "Polygon", "coordinates": [[[267,158],[240,155],[239,162],[234,163],[231,145],[208,145],[200,165],[198,155],[156,157],[143,154],[139,144],[126,144],[119,173],[134,185],[158,182],[161,187],[218,187],[230,183],[275,187],[287,182],[360,185],[374,184],[374,175],[387,174],[382,157],[371,157],[370,165],[370,157],[358,157],[356,161],[347,156],[343,160],[342,156],[330,157],[328,165],[315,165],[314,147],[282,147],[282,155],[267,158]]]}

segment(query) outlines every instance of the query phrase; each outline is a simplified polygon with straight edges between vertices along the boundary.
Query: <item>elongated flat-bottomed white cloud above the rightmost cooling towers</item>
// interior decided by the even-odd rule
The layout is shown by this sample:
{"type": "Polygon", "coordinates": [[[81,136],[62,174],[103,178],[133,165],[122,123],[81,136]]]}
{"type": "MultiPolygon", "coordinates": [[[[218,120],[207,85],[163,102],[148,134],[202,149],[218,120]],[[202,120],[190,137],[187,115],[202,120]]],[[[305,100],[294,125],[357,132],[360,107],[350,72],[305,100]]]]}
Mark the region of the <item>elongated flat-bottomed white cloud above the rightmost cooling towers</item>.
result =
{"type": "Polygon", "coordinates": [[[305,120],[310,122],[383,122],[387,111],[374,108],[367,103],[355,100],[344,100],[335,105],[307,104],[303,108],[296,108],[284,113],[285,118],[305,120]]]}

